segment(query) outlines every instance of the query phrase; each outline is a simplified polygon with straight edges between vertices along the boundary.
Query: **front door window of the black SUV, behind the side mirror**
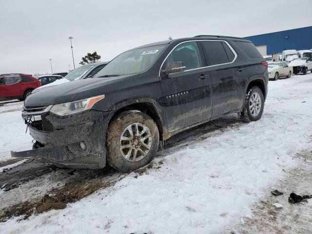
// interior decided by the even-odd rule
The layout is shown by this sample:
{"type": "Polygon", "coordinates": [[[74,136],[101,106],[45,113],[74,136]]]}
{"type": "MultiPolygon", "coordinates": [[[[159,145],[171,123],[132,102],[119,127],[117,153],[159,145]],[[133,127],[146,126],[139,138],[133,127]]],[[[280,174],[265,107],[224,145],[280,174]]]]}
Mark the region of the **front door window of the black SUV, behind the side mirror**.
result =
{"type": "Polygon", "coordinates": [[[178,45],[166,59],[162,69],[166,67],[168,62],[184,62],[186,67],[185,70],[190,70],[203,66],[199,49],[195,41],[185,42],[178,45]]]}

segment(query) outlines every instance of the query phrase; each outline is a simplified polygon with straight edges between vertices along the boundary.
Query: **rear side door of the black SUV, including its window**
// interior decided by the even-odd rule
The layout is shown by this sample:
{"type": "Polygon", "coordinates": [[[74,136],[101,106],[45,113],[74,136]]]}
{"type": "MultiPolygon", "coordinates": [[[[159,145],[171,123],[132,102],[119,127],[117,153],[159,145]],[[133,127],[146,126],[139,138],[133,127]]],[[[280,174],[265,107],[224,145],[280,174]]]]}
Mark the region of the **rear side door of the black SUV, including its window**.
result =
{"type": "Polygon", "coordinates": [[[201,42],[208,66],[211,66],[213,117],[237,110],[241,101],[237,98],[234,52],[225,41],[201,42]]]}

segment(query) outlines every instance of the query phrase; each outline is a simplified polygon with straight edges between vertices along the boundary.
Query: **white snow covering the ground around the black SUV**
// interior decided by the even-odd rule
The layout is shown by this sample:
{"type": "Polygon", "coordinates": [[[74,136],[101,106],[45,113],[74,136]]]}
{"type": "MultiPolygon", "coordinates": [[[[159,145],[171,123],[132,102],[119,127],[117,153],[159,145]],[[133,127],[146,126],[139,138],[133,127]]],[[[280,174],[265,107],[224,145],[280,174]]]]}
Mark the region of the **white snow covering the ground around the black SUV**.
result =
{"type": "MultiPolygon", "coordinates": [[[[2,107],[0,107],[1,110],[2,107]]],[[[3,233],[229,233],[251,205],[311,148],[312,74],[269,82],[262,118],[159,152],[131,173],[63,210],[0,223],[3,233]]],[[[0,157],[31,148],[20,112],[0,112],[0,157]],[[12,124],[13,123],[13,124],[12,124]]],[[[4,194],[2,194],[4,195],[4,194]]]]}

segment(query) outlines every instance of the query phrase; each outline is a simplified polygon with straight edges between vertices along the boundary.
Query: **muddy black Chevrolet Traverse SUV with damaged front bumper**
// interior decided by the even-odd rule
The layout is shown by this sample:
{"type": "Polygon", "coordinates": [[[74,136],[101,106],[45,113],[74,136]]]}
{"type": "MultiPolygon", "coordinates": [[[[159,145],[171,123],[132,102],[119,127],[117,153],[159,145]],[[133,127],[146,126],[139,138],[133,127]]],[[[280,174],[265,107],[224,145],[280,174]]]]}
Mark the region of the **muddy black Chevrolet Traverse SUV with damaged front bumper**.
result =
{"type": "Polygon", "coordinates": [[[267,66],[251,41],[234,37],[200,35],[128,50],[95,78],[29,96],[22,116],[37,141],[33,150],[11,155],[136,170],[185,129],[230,113],[258,120],[267,66]]]}

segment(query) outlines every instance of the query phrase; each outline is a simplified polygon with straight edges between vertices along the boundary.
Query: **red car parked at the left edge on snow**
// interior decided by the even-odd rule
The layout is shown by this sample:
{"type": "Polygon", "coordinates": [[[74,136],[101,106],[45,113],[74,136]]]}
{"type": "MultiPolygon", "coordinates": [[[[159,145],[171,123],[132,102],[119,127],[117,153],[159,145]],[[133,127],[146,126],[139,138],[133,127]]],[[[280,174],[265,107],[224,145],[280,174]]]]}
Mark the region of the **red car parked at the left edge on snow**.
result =
{"type": "Polygon", "coordinates": [[[0,100],[24,100],[31,92],[41,86],[38,79],[25,74],[0,75],[0,100]]]}

